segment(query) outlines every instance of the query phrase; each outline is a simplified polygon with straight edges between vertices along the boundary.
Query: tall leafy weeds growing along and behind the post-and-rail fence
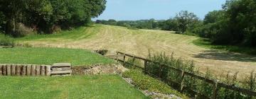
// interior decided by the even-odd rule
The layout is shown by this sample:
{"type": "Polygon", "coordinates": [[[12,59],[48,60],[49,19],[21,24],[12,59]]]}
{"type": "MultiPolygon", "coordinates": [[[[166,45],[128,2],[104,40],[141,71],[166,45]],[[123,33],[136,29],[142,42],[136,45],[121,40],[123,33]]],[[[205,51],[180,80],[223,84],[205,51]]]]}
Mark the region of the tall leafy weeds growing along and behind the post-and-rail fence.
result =
{"type": "MultiPolygon", "coordinates": [[[[178,71],[174,71],[173,69],[170,69],[171,67],[175,67],[176,69],[181,69],[183,71],[190,72],[192,74],[201,75],[205,78],[212,79],[215,81],[220,81],[221,83],[226,83],[230,86],[238,86],[240,88],[247,88],[251,91],[255,91],[256,86],[256,74],[254,74],[254,71],[251,72],[251,76],[246,78],[244,82],[240,82],[237,80],[238,72],[236,72],[233,75],[230,75],[230,72],[228,72],[226,75],[223,74],[220,78],[215,77],[212,73],[210,73],[209,70],[206,71],[206,74],[201,74],[198,69],[195,68],[195,65],[193,64],[193,61],[186,61],[181,58],[174,58],[174,53],[169,55],[166,55],[165,53],[159,53],[159,54],[150,54],[149,53],[149,60],[152,62],[149,62],[149,64],[146,66],[146,73],[149,74],[149,76],[159,78],[162,81],[169,84],[169,86],[172,86],[173,88],[176,88],[179,90],[179,82],[181,82],[181,73],[178,71]],[[161,64],[166,64],[163,67],[161,67],[161,64]],[[174,83],[176,82],[176,83],[174,83]]],[[[201,93],[201,95],[198,95],[198,98],[212,98],[213,97],[213,85],[210,83],[206,83],[206,81],[199,80],[197,78],[193,78],[191,76],[185,76],[184,79],[185,83],[184,86],[193,89],[194,91],[197,91],[201,93]]],[[[191,97],[194,97],[196,94],[191,93],[190,90],[181,91],[183,93],[186,93],[187,95],[190,95],[191,97]]],[[[218,98],[225,98],[225,99],[233,99],[233,98],[252,98],[250,95],[244,95],[242,93],[236,92],[236,91],[230,91],[225,88],[218,88],[218,98]]]]}

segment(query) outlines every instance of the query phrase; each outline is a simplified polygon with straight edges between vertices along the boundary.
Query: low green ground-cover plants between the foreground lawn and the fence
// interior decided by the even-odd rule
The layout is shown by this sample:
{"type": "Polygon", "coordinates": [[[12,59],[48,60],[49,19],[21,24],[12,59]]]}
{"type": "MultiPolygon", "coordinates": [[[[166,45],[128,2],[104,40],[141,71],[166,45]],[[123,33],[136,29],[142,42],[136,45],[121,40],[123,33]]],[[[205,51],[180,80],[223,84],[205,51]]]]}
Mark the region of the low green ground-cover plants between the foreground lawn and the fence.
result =
{"type": "Polygon", "coordinates": [[[186,95],[175,91],[166,83],[161,82],[156,78],[144,75],[142,71],[132,69],[124,72],[123,76],[125,78],[132,78],[133,84],[142,90],[148,90],[156,93],[173,94],[181,98],[187,98],[186,95]]]}

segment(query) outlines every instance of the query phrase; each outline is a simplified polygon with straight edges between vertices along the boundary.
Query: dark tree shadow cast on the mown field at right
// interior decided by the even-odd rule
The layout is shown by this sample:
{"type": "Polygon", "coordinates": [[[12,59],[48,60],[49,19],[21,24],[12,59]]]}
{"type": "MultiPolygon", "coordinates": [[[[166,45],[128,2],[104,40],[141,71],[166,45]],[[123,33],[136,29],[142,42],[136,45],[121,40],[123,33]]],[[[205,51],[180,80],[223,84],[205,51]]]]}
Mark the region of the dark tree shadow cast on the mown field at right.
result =
{"type": "Polygon", "coordinates": [[[256,62],[256,57],[240,54],[235,52],[223,52],[220,50],[207,50],[200,54],[195,54],[195,58],[225,60],[225,61],[238,61],[238,62],[256,62]]]}

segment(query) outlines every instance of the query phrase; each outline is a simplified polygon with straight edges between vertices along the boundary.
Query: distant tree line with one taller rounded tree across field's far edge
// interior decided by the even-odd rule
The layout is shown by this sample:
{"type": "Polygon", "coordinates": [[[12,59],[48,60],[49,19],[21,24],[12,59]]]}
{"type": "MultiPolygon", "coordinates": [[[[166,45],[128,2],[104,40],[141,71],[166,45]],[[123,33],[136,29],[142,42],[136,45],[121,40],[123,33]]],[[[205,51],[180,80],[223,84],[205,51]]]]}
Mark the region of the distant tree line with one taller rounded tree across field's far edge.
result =
{"type": "Polygon", "coordinates": [[[114,19],[110,19],[108,21],[97,20],[95,23],[102,23],[105,25],[118,25],[137,29],[173,30],[185,33],[187,30],[191,30],[191,28],[201,23],[201,21],[194,13],[181,11],[177,13],[174,18],[169,18],[166,21],[155,20],[154,18],[139,21],[115,21],[114,19]]]}

